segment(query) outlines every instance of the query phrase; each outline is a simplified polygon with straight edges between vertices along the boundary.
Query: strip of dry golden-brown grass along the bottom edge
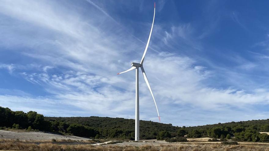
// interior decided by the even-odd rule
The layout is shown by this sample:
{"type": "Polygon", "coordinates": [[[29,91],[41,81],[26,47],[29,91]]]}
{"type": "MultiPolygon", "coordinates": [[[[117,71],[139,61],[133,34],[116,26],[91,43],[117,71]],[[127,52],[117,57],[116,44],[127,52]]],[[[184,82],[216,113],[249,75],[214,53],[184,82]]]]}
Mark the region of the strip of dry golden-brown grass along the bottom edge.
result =
{"type": "Polygon", "coordinates": [[[179,144],[159,146],[118,146],[115,145],[61,145],[56,143],[20,142],[0,140],[0,150],[28,151],[269,151],[268,145],[220,145],[220,144],[179,144]]]}

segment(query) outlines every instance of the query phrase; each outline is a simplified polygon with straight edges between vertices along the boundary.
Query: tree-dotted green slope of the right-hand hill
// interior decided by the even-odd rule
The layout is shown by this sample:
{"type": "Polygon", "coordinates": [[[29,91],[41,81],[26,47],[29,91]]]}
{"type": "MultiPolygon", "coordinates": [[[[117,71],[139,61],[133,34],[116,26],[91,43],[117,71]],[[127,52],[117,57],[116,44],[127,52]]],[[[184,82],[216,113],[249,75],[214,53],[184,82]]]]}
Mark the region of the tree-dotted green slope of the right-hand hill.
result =
{"type": "Polygon", "coordinates": [[[231,136],[234,136],[237,141],[269,142],[269,135],[259,133],[269,131],[269,119],[219,123],[187,127],[185,129],[189,138],[211,137],[230,139],[231,136]]]}

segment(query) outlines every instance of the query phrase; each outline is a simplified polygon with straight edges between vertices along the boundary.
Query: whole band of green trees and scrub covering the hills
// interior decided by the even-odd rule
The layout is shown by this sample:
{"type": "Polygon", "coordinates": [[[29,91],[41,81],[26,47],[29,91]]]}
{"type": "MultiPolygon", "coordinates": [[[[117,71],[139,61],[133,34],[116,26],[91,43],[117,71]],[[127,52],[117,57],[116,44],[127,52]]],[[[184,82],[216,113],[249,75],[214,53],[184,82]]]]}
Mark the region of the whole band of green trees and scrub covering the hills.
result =
{"type": "MultiPolygon", "coordinates": [[[[90,138],[121,138],[134,140],[135,120],[110,117],[44,117],[34,111],[11,111],[0,107],[0,129],[5,127],[35,129],[90,138]]],[[[236,141],[269,142],[269,119],[219,123],[195,127],[175,127],[151,121],[140,121],[140,138],[158,139],[222,138],[236,141]]],[[[176,141],[176,140],[171,140],[176,141]]]]}

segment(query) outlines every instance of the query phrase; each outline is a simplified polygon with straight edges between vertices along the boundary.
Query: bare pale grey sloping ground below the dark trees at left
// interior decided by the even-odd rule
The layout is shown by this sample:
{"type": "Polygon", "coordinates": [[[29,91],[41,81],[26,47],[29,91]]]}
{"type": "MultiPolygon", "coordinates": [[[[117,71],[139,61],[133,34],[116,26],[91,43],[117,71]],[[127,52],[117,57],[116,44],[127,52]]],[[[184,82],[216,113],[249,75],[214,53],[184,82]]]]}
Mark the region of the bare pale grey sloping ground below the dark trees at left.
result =
{"type": "Polygon", "coordinates": [[[20,140],[61,140],[61,139],[71,139],[71,140],[89,140],[88,138],[77,137],[77,136],[64,136],[51,133],[43,132],[14,132],[0,130],[0,139],[20,139],[20,140]]]}

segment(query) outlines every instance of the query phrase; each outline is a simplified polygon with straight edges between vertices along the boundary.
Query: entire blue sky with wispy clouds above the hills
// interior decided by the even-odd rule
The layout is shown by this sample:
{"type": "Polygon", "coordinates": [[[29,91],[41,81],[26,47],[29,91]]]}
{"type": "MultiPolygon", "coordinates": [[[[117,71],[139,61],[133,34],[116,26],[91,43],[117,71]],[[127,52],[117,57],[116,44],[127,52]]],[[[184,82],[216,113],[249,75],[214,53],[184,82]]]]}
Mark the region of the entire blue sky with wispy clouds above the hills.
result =
{"type": "MultiPolygon", "coordinates": [[[[267,119],[268,1],[156,1],[143,67],[161,122],[267,119]]],[[[0,106],[134,118],[135,71],[154,1],[0,4],[0,106]]],[[[140,72],[140,119],[158,121],[140,72]]]]}

